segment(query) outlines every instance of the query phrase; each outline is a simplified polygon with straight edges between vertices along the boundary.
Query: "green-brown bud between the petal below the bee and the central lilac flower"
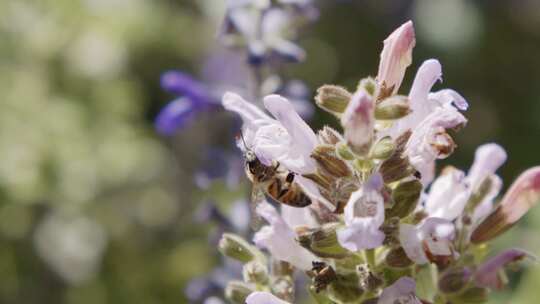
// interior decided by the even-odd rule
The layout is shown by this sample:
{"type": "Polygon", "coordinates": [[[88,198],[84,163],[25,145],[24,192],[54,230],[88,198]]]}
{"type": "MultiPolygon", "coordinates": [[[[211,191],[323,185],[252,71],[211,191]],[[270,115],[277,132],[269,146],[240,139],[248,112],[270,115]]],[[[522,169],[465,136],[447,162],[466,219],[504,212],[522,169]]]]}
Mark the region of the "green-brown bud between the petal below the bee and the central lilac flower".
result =
{"type": "Polygon", "coordinates": [[[349,252],[341,247],[337,240],[337,223],[330,223],[320,228],[309,229],[298,236],[300,245],[313,254],[323,258],[344,258],[349,252]]]}

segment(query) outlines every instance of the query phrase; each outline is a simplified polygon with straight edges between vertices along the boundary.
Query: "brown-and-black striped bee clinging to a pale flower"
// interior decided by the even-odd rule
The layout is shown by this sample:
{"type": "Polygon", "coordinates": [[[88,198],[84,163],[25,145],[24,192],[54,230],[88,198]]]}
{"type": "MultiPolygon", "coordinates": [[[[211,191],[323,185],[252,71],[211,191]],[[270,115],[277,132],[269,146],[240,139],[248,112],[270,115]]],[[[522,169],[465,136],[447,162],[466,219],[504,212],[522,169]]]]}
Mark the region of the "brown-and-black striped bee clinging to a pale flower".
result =
{"type": "Polygon", "coordinates": [[[246,174],[253,183],[253,203],[260,202],[266,195],[291,207],[303,208],[311,205],[311,199],[295,181],[295,173],[283,168],[278,161],[273,161],[270,166],[263,164],[255,152],[247,148],[245,141],[244,147],[246,174]]]}

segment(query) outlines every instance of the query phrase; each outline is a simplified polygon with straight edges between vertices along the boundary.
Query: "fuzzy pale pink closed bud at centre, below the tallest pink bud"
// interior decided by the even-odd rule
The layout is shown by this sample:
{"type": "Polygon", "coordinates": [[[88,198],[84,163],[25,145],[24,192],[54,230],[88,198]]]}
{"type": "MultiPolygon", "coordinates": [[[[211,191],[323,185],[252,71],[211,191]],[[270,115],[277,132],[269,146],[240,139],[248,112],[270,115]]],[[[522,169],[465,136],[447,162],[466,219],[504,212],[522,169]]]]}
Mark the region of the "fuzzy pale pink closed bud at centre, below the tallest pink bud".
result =
{"type": "Polygon", "coordinates": [[[364,155],[369,151],[375,126],[373,99],[365,90],[359,90],[341,116],[345,139],[352,150],[364,155]]]}

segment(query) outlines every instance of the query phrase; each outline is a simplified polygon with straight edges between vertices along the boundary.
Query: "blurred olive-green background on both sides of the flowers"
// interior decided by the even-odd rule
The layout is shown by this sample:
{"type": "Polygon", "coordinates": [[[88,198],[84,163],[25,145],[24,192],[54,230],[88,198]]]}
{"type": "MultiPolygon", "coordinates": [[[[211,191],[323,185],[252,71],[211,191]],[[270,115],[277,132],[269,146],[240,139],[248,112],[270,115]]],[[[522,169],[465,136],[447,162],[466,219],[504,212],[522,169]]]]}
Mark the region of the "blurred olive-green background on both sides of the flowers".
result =
{"type": "MultiPolygon", "coordinates": [[[[505,185],[540,163],[540,2],[321,1],[300,41],[306,62],[283,70],[312,90],[374,75],[382,40],[415,22],[414,63],[438,58],[444,83],[470,103],[460,148],[509,154],[505,185]]],[[[186,303],[190,278],[218,265],[193,220],[202,149],[231,145],[211,117],[170,139],[153,118],[172,96],[160,74],[198,75],[216,49],[223,0],[0,0],[0,303],[186,303]],[[210,121],[213,121],[212,123],[210,121]]],[[[317,112],[312,126],[330,117],[317,112]]],[[[540,254],[535,209],[497,246],[540,254]]],[[[490,303],[537,303],[540,268],[511,276],[490,303]]]]}

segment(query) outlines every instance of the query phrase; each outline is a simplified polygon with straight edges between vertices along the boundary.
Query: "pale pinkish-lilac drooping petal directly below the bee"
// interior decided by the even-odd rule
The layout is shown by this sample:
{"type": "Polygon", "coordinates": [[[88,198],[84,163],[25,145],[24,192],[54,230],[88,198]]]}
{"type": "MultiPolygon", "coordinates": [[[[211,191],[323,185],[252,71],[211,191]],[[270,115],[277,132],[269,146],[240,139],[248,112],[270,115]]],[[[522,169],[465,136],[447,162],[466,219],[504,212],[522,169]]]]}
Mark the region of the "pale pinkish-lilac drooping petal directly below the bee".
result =
{"type": "Polygon", "coordinates": [[[274,258],[291,263],[293,266],[308,270],[311,262],[317,258],[301,247],[295,240],[296,234],[287,225],[277,210],[263,202],[257,206],[257,213],[268,222],[253,237],[254,243],[266,248],[274,258]]]}

